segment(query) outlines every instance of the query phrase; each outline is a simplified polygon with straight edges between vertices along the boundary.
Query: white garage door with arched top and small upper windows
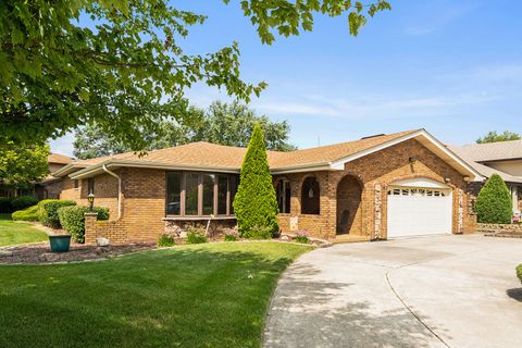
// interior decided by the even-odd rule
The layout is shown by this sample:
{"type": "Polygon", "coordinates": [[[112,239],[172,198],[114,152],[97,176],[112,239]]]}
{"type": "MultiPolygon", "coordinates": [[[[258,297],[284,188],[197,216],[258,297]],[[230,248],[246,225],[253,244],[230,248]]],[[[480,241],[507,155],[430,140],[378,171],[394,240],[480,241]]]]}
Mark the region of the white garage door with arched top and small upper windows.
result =
{"type": "Polygon", "coordinates": [[[388,189],[388,238],[451,233],[451,189],[430,179],[388,189]]]}

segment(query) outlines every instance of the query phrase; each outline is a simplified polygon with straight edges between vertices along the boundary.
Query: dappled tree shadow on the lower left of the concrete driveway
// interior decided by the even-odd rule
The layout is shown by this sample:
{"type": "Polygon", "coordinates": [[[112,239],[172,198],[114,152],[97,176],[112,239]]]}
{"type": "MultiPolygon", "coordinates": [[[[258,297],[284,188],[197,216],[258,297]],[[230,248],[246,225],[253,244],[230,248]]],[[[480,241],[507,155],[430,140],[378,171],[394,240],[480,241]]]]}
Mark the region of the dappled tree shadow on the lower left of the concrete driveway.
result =
{"type": "Polygon", "coordinates": [[[265,347],[444,347],[406,310],[383,311],[364,294],[358,302],[344,301],[337,296],[353,284],[310,281],[320,278],[314,274],[302,263],[285,274],[272,300],[265,347]]]}

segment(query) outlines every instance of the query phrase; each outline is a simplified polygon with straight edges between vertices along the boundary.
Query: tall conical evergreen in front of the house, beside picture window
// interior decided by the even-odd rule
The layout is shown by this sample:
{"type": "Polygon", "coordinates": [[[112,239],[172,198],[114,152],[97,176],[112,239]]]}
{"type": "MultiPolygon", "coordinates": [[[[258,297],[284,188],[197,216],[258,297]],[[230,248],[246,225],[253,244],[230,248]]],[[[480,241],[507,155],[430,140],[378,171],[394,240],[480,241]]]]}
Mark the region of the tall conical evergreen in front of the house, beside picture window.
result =
{"type": "Polygon", "coordinates": [[[266,160],[263,130],[259,124],[253,128],[243,161],[234,212],[241,235],[253,227],[266,227],[273,233],[278,231],[277,200],[266,160]]]}

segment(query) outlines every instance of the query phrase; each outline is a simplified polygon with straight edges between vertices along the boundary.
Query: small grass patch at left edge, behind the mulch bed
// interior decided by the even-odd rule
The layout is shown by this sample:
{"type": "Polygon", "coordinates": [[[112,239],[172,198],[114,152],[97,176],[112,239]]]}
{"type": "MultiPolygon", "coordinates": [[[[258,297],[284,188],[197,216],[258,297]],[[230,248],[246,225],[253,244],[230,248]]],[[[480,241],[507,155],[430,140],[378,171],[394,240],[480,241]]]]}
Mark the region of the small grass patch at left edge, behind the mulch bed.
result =
{"type": "Polygon", "coordinates": [[[0,214],[0,247],[48,240],[47,234],[26,222],[14,222],[11,214],[0,214]]]}

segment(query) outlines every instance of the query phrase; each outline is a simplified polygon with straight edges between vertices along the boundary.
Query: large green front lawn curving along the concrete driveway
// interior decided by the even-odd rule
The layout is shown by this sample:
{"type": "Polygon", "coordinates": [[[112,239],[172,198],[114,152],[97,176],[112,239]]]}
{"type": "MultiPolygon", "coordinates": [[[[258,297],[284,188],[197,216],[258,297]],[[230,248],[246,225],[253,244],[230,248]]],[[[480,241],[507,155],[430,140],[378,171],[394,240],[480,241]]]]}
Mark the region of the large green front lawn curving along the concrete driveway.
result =
{"type": "Polygon", "coordinates": [[[309,247],[187,245],[0,268],[0,347],[260,347],[281,272],[309,247]]]}

